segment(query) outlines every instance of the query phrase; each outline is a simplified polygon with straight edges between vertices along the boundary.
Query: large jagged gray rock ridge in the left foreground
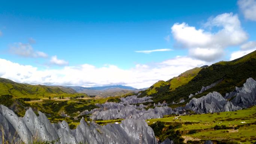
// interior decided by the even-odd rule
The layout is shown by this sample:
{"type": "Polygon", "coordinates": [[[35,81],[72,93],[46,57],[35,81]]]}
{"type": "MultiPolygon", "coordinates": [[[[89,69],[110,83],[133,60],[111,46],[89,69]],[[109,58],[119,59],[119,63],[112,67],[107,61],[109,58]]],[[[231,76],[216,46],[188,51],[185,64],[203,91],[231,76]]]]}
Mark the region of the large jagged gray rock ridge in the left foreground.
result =
{"type": "Polygon", "coordinates": [[[84,119],[76,129],[71,130],[63,121],[51,124],[45,114],[37,117],[30,108],[24,117],[18,117],[4,105],[0,105],[0,124],[3,126],[5,140],[32,143],[33,140],[52,141],[60,144],[157,144],[152,128],[143,120],[126,119],[120,124],[111,123],[100,126],[84,119]]]}

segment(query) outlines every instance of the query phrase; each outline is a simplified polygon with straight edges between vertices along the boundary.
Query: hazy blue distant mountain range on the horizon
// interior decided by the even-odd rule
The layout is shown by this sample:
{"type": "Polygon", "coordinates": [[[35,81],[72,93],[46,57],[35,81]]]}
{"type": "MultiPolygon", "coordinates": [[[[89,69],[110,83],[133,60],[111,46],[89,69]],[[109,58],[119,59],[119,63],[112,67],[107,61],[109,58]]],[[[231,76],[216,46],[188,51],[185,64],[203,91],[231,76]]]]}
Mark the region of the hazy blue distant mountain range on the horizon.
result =
{"type": "Polygon", "coordinates": [[[72,88],[79,93],[85,93],[87,95],[101,95],[101,96],[114,96],[124,95],[128,93],[137,93],[144,89],[136,89],[131,86],[112,85],[112,86],[97,86],[97,87],[82,87],[82,86],[63,86],[65,88],[72,88]]]}

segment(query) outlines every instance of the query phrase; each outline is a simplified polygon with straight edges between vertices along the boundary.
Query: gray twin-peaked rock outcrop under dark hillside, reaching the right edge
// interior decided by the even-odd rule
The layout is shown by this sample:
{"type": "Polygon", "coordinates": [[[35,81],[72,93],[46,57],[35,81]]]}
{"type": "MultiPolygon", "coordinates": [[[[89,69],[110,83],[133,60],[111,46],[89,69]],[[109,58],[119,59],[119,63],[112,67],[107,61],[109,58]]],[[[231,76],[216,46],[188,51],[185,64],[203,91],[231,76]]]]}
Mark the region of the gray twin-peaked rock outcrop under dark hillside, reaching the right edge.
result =
{"type": "Polygon", "coordinates": [[[235,91],[227,93],[224,98],[218,92],[209,93],[201,98],[192,98],[185,108],[196,113],[214,113],[240,110],[253,105],[256,105],[256,81],[249,78],[243,87],[236,87],[235,91]]]}

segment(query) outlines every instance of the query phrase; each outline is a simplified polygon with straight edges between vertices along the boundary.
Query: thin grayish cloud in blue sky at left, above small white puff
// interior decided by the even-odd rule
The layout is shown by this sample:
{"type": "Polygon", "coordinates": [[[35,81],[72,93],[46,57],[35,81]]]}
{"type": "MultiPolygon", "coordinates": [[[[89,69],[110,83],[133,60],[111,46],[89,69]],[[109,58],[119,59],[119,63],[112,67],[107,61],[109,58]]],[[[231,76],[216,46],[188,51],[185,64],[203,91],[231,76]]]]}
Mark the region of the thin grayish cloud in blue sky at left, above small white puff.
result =
{"type": "Polygon", "coordinates": [[[31,58],[47,58],[48,55],[44,52],[35,51],[33,47],[28,43],[14,43],[9,48],[10,53],[24,56],[24,57],[31,57],[31,58]]]}

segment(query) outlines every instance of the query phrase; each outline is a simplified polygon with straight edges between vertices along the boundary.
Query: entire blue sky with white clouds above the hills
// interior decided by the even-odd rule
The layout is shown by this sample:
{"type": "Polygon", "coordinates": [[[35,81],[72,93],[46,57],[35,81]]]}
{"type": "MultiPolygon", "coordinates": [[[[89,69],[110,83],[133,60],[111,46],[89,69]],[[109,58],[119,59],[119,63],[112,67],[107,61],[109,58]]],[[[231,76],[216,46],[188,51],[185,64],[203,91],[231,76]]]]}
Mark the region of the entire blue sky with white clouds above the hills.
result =
{"type": "Polygon", "coordinates": [[[0,59],[13,67],[4,68],[2,64],[0,77],[31,84],[148,87],[184,70],[228,61],[255,50],[255,3],[255,0],[1,1],[0,59]],[[230,35],[234,37],[226,38],[230,35]],[[235,40],[237,36],[240,40],[235,40]],[[220,37],[232,42],[222,42],[220,37]],[[143,53],[143,50],[155,52],[143,53]],[[186,58],[191,59],[187,59],[188,63],[192,60],[198,63],[183,64],[186,58]],[[167,61],[177,64],[162,65],[167,61]],[[90,67],[83,70],[82,65],[90,67]],[[18,67],[28,70],[18,71],[18,67]],[[67,69],[72,70],[67,72],[67,69]],[[9,74],[8,70],[16,72],[9,74]],[[77,77],[70,76],[73,74],[77,77]]]}

